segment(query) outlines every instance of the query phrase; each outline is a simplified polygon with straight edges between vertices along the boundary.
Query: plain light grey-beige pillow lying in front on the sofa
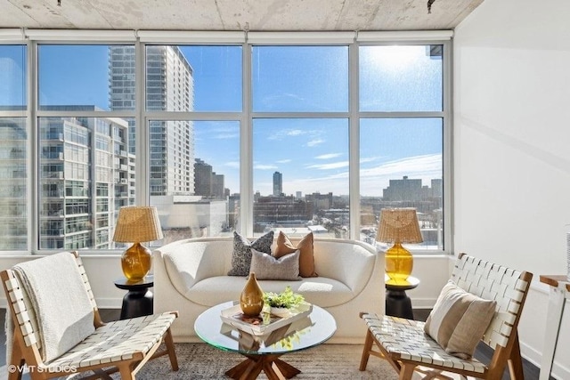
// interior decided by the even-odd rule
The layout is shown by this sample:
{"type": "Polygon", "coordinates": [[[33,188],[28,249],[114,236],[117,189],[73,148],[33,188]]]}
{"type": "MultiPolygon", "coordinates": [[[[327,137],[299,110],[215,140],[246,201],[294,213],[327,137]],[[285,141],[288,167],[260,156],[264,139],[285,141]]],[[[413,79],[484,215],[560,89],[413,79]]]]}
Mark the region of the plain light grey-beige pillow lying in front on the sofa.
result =
{"type": "Polygon", "coordinates": [[[272,255],[258,252],[251,248],[250,272],[256,273],[256,279],[283,279],[299,281],[299,251],[283,255],[276,259],[272,255]]]}

